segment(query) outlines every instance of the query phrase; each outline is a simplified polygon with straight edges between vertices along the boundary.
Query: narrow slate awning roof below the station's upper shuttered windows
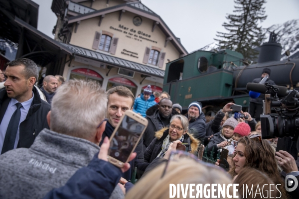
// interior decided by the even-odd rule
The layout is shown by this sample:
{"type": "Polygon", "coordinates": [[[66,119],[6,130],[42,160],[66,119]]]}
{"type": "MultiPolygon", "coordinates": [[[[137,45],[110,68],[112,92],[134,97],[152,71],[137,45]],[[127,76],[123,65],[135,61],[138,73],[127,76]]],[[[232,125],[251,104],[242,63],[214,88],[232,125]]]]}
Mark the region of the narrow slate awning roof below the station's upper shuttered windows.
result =
{"type": "Polygon", "coordinates": [[[65,44],[65,43],[60,43],[60,44],[69,48],[69,50],[71,50],[73,52],[73,54],[77,54],[77,55],[84,56],[87,58],[92,58],[97,61],[101,61],[103,63],[109,64],[111,66],[125,68],[125,69],[129,69],[129,70],[136,71],[139,73],[143,73],[143,74],[149,74],[150,76],[164,78],[165,72],[163,70],[160,70],[157,68],[153,68],[153,67],[150,67],[147,65],[128,61],[128,60],[121,59],[118,57],[113,57],[111,55],[106,55],[106,54],[103,54],[103,53],[100,53],[97,51],[89,50],[89,49],[82,48],[79,46],[74,46],[71,44],[65,44]]]}

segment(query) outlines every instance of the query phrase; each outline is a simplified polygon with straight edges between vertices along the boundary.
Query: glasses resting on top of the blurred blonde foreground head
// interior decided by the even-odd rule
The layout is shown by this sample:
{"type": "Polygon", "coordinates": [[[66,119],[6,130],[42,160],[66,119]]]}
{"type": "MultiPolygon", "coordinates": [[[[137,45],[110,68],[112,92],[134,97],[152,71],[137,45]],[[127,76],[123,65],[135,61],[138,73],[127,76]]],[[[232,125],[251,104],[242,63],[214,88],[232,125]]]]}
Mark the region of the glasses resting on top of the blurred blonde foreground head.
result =
{"type": "Polygon", "coordinates": [[[217,167],[213,164],[210,164],[210,163],[206,163],[206,162],[203,162],[199,159],[197,159],[196,156],[194,156],[192,153],[188,153],[188,152],[185,152],[185,151],[181,151],[181,150],[176,150],[176,151],[171,151],[170,153],[170,157],[168,159],[168,161],[166,162],[166,165],[165,165],[165,168],[164,168],[164,171],[161,175],[161,178],[164,177],[166,171],[167,171],[167,168],[168,168],[168,165],[169,165],[169,162],[170,161],[179,161],[179,160],[182,160],[182,159],[191,159],[191,160],[194,160],[195,163],[199,163],[199,164],[202,164],[206,167],[209,167],[209,168],[214,168],[214,169],[218,169],[218,170],[222,170],[224,171],[222,168],[220,167],[217,167]]]}

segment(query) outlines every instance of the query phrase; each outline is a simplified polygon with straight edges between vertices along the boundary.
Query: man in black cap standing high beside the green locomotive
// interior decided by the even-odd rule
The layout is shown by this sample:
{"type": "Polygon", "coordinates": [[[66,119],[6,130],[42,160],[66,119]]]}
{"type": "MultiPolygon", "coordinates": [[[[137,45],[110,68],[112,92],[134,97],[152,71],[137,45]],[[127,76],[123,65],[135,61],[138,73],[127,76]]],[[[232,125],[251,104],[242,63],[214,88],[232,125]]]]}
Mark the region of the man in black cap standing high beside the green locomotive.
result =
{"type": "MultiPolygon", "coordinates": [[[[263,69],[262,76],[260,78],[254,79],[252,83],[259,84],[262,79],[266,76],[268,76],[268,79],[266,82],[269,82],[271,85],[276,85],[274,81],[270,80],[270,73],[271,70],[268,68],[263,69]]],[[[249,114],[252,115],[252,117],[255,117],[257,121],[260,120],[260,115],[263,114],[263,100],[265,100],[265,95],[261,94],[258,98],[250,98],[249,103],[249,114]]]]}

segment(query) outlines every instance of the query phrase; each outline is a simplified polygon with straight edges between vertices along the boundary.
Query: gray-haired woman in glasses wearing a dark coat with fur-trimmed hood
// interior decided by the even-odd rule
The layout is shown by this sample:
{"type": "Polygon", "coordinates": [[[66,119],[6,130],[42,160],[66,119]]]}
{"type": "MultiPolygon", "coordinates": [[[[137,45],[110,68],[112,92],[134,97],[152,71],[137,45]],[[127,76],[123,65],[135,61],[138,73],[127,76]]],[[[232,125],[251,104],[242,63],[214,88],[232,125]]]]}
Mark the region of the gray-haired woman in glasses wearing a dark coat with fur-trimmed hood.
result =
{"type": "Polygon", "coordinates": [[[155,138],[144,153],[145,162],[151,163],[156,157],[163,158],[170,143],[176,140],[188,143],[190,146],[188,152],[194,154],[197,151],[199,141],[188,133],[188,126],[189,121],[185,116],[173,115],[169,128],[162,128],[155,132],[155,138]]]}

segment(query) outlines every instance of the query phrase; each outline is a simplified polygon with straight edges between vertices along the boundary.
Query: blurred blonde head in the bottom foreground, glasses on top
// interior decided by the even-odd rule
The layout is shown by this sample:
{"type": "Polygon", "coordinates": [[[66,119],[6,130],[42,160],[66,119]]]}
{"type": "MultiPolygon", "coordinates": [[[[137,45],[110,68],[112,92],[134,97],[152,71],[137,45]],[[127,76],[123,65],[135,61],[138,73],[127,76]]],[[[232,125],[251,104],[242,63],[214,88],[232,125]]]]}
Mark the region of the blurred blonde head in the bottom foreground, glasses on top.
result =
{"type": "MultiPolygon", "coordinates": [[[[125,199],[168,199],[169,198],[169,184],[183,184],[186,188],[186,184],[195,184],[192,195],[196,196],[196,185],[202,184],[202,190],[205,184],[230,184],[231,179],[223,170],[220,170],[213,165],[206,166],[196,162],[191,158],[184,158],[178,161],[168,160],[168,165],[163,163],[153,169],[149,174],[142,178],[134,188],[132,188],[127,194],[125,199]],[[164,175],[163,175],[164,173],[164,175]]],[[[233,196],[233,189],[230,187],[229,194],[233,196]]],[[[208,187],[211,189],[211,187],[208,187]]],[[[171,189],[170,189],[171,190],[171,189]]],[[[179,189],[179,197],[176,193],[174,198],[189,198],[190,188],[187,189],[186,197],[183,197],[181,189],[179,189]]],[[[217,189],[216,189],[217,190],[217,189]]],[[[177,192],[177,189],[176,189],[177,192]]],[[[171,194],[174,194],[173,191],[171,194]]],[[[218,196],[218,192],[214,193],[218,196]]],[[[204,195],[202,195],[201,198],[204,195]]],[[[220,195],[222,196],[222,195],[220,195]]],[[[226,195],[227,196],[227,195],[226,195]]],[[[219,198],[219,199],[226,199],[219,198]]]]}

